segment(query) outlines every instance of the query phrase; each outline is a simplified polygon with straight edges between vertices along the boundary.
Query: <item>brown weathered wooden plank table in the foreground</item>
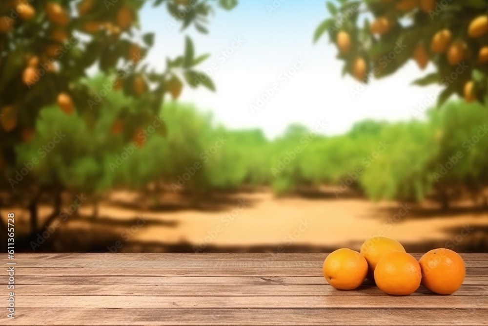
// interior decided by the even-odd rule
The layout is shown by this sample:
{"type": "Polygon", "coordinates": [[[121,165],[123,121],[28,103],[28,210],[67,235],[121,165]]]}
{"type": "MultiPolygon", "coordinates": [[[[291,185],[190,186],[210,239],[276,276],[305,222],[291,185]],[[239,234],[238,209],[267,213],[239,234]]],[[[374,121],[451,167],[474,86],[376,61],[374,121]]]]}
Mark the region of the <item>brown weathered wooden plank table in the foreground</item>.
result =
{"type": "Polygon", "coordinates": [[[332,288],[326,254],[16,254],[0,325],[488,325],[488,254],[462,256],[453,295],[389,296],[332,288]]]}

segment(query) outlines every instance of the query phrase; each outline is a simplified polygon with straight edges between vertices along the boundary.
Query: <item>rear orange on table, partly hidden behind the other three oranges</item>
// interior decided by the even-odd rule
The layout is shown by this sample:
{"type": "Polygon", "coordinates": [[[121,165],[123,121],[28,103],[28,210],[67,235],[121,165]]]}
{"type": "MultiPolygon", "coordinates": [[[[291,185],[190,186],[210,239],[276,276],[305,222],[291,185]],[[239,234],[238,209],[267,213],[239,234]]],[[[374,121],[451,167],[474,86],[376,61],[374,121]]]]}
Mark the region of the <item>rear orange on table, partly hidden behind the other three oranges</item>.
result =
{"type": "Polygon", "coordinates": [[[368,264],[367,279],[374,282],[374,269],[378,261],[386,254],[393,251],[405,252],[405,248],[397,240],[386,237],[369,238],[361,246],[361,254],[368,264]]]}

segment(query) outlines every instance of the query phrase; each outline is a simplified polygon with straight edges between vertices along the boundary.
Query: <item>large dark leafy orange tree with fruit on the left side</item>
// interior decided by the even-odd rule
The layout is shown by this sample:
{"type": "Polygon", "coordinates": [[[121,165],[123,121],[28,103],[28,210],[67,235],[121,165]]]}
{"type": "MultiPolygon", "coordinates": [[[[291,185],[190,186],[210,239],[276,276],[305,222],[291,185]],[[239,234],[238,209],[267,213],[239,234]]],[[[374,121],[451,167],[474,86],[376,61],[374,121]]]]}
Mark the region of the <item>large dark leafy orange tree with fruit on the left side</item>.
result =
{"type": "MultiPolygon", "coordinates": [[[[40,187],[34,175],[25,175],[32,179],[29,182],[19,181],[24,173],[16,173],[20,163],[15,148],[35,136],[42,108],[56,105],[66,115],[80,116],[90,129],[97,125],[103,105],[108,105],[99,107],[107,93],[120,90],[133,107],[118,110],[107,134],[122,134],[129,142],[138,141],[143,126],[159,116],[165,94],[178,98],[184,83],[214,89],[208,76],[194,68],[207,56],[197,56],[189,38],[184,53],[167,59],[163,72],[144,64],[154,43],[153,33],[136,37],[144,4],[165,7],[183,29],[195,26],[207,33],[206,18],[213,8],[231,9],[237,0],[1,1],[0,171],[4,177],[0,184],[22,194],[35,188],[29,199],[31,219],[37,214],[40,187]],[[112,78],[94,89],[85,82],[88,69],[112,78]]],[[[162,28],[167,26],[163,23],[162,28]]],[[[164,130],[158,132],[164,134],[164,130]]]]}

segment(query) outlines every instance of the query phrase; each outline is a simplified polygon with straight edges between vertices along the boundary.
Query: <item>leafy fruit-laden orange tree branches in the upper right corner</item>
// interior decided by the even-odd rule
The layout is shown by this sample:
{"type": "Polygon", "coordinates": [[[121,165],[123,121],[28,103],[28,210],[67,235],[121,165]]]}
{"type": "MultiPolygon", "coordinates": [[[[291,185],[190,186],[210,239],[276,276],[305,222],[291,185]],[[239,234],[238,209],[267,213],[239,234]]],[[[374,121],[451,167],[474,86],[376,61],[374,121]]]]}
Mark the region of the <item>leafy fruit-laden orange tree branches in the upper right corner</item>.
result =
{"type": "Polygon", "coordinates": [[[435,72],[414,83],[441,84],[439,104],[457,93],[484,102],[488,92],[488,2],[484,0],[339,0],[315,31],[328,32],[344,73],[359,81],[396,72],[409,59],[435,72]]]}

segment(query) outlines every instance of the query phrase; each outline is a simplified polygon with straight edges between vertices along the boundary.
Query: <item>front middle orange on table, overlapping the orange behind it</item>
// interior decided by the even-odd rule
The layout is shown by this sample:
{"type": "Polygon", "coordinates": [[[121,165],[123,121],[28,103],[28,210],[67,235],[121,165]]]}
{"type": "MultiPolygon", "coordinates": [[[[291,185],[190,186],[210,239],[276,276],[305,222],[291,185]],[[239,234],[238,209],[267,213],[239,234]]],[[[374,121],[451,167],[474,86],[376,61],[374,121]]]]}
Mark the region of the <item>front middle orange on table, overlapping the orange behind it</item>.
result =
{"type": "Polygon", "coordinates": [[[374,281],[387,294],[408,295],[420,286],[422,272],[418,261],[406,252],[390,252],[374,270],[374,281]]]}

